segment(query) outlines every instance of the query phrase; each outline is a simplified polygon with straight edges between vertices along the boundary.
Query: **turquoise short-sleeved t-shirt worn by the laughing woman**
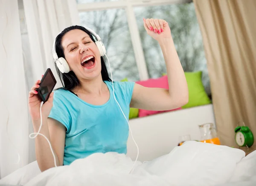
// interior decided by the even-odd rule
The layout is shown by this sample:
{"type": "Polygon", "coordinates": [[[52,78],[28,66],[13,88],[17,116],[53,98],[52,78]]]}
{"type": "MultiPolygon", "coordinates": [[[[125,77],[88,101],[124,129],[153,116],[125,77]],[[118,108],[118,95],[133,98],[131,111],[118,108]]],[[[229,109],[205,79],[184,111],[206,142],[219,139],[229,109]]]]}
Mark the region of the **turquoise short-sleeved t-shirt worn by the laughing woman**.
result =
{"type": "MultiPolygon", "coordinates": [[[[113,97],[112,82],[105,81],[109,100],[88,104],[68,90],[55,90],[49,114],[66,128],[64,165],[96,152],[127,152],[128,123],[113,97]]],[[[115,97],[127,119],[134,82],[114,82],[115,97]]]]}

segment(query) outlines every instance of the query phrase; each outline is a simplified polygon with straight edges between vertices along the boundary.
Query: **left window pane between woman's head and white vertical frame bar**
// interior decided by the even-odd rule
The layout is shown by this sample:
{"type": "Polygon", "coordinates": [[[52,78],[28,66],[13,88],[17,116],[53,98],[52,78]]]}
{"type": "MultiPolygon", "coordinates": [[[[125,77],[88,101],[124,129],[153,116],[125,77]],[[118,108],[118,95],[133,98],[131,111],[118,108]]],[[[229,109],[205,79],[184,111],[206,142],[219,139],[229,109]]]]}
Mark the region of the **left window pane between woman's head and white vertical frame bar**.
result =
{"type": "MultiPolygon", "coordinates": [[[[139,80],[124,9],[80,12],[82,26],[95,31],[105,45],[113,79],[139,80]]],[[[107,61],[106,61],[107,62],[107,61]]],[[[108,65],[108,62],[107,62],[108,65]]]]}

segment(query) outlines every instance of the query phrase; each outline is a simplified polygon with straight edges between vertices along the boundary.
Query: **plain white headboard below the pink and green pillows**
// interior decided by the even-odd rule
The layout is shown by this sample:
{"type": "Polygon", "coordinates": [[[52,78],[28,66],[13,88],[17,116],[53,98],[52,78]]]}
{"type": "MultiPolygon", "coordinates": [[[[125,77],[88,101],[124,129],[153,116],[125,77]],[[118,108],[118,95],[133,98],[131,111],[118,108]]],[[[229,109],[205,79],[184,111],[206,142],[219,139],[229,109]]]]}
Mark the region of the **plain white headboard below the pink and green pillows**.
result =
{"type": "MultiPolygon", "coordinates": [[[[180,135],[191,136],[200,140],[198,125],[215,124],[212,104],[188,109],[160,113],[130,120],[130,127],[139,147],[139,161],[149,161],[169,153],[179,143],[180,135]]],[[[128,138],[127,155],[133,160],[137,157],[137,147],[128,138]]]]}

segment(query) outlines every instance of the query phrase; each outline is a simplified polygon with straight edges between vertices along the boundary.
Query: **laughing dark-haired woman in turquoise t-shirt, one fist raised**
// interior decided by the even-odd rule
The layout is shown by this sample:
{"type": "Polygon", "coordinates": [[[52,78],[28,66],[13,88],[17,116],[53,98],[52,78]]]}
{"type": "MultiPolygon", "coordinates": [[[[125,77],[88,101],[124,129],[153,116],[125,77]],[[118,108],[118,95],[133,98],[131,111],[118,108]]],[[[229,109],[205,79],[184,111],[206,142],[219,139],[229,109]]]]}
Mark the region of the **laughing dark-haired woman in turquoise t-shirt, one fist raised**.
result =
{"type": "MultiPolygon", "coordinates": [[[[188,101],[188,88],[171,31],[165,20],[143,19],[148,35],[156,39],[166,62],[169,90],[148,88],[134,82],[114,82],[116,100],[126,118],[129,107],[171,110],[188,101]]],[[[90,32],[81,26],[64,29],[55,40],[58,57],[70,72],[56,68],[64,88],[51,93],[42,106],[41,133],[50,139],[57,166],[68,165],[96,152],[126,153],[128,125],[113,99],[111,79],[90,32]],[[54,94],[54,96],[53,96],[54,94]]],[[[36,88],[29,92],[29,111],[35,132],[40,126],[40,102],[36,88]]],[[[54,166],[47,141],[38,136],[35,151],[41,171],[54,166]]]]}

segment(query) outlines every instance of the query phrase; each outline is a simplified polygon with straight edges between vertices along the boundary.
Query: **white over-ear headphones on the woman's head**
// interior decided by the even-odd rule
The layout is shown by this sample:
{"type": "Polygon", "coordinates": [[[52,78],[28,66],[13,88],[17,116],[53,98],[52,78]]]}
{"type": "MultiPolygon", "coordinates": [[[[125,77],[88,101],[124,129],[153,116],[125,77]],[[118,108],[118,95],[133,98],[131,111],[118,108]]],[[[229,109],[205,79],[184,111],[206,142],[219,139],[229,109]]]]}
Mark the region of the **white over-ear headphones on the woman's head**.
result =
{"type": "MultiPolygon", "coordinates": [[[[86,28],[86,27],[85,27],[86,28]]],[[[99,54],[100,56],[105,56],[105,54],[107,53],[106,52],[106,48],[103,44],[103,42],[101,41],[100,37],[98,34],[96,34],[92,29],[90,28],[86,28],[95,38],[96,38],[96,46],[97,48],[99,49],[99,54]]],[[[61,31],[62,32],[62,31],[61,31]]],[[[60,33],[61,33],[60,32],[60,33]]],[[[59,33],[59,34],[60,34],[59,33]]],[[[58,35],[59,35],[58,34],[58,35]]],[[[58,36],[57,35],[57,36],[58,36]]],[[[61,73],[68,73],[70,72],[70,67],[69,65],[67,64],[67,61],[66,59],[64,59],[63,57],[58,57],[57,53],[56,53],[56,46],[55,46],[55,42],[56,42],[56,37],[54,39],[54,42],[53,42],[53,46],[52,46],[52,56],[53,56],[53,59],[54,59],[54,62],[56,63],[58,69],[61,71],[61,73]]]]}

